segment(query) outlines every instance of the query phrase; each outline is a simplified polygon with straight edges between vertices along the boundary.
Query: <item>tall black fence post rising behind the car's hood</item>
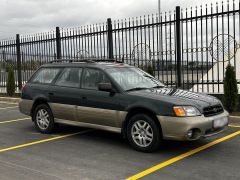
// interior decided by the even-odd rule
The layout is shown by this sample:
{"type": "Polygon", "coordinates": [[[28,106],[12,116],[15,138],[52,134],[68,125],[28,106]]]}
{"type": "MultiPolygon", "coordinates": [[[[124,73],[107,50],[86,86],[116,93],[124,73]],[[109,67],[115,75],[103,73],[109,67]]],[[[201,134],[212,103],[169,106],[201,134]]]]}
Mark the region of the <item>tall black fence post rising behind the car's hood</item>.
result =
{"type": "Polygon", "coordinates": [[[181,65],[181,21],[180,6],[176,7],[176,53],[177,53],[177,87],[182,87],[182,65],[181,65]]]}

